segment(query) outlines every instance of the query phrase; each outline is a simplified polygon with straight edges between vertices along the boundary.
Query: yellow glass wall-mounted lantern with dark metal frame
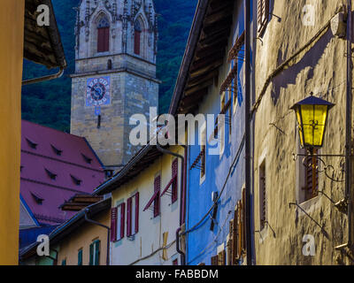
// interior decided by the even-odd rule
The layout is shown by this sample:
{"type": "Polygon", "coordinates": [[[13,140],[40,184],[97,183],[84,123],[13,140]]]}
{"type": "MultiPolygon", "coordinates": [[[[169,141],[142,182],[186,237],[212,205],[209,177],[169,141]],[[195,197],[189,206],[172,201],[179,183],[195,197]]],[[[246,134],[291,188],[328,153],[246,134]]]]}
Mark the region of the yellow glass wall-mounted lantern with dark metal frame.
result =
{"type": "Polygon", "coordinates": [[[310,96],[291,107],[296,112],[299,137],[303,149],[322,147],[328,111],[333,106],[335,104],[316,96],[310,96]]]}

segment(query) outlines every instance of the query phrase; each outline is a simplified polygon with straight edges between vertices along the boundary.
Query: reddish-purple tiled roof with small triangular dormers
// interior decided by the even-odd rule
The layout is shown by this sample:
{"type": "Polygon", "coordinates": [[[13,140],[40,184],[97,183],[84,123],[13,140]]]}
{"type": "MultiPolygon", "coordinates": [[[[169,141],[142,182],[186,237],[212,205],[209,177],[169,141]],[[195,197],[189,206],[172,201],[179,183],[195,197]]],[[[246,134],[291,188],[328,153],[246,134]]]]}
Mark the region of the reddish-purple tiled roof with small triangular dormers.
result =
{"type": "Polygon", "coordinates": [[[78,193],[92,194],[103,182],[103,166],[86,139],[22,120],[20,190],[38,222],[58,225],[71,218],[74,212],[59,206],[78,193]]]}

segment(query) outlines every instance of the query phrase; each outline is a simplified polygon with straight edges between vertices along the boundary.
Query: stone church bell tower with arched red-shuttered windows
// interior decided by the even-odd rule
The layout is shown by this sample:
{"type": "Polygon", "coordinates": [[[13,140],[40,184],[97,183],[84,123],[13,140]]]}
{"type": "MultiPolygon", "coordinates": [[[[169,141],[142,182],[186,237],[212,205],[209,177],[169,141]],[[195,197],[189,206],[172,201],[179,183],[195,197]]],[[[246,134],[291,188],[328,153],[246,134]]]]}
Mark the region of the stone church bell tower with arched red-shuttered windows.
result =
{"type": "Polygon", "coordinates": [[[158,107],[157,15],[152,0],[81,0],[75,27],[71,133],[85,137],[107,170],[136,148],[129,119],[158,107]]]}

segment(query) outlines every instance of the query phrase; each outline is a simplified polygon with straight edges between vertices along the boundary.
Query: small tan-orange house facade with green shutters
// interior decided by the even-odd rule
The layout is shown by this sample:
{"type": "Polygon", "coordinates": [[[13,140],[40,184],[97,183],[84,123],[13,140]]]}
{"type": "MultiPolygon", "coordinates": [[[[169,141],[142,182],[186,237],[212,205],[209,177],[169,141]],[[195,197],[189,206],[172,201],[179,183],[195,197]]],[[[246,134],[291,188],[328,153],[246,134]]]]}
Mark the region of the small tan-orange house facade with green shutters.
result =
{"type": "MultiPolygon", "coordinates": [[[[101,212],[93,220],[104,226],[110,226],[110,210],[101,212]]],[[[96,240],[101,241],[99,265],[106,265],[107,229],[91,223],[80,226],[58,244],[58,265],[61,265],[63,260],[66,260],[66,265],[78,265],[80,249],[82,249],[82,265],[89,265],[89,245],[96,240]]]]}

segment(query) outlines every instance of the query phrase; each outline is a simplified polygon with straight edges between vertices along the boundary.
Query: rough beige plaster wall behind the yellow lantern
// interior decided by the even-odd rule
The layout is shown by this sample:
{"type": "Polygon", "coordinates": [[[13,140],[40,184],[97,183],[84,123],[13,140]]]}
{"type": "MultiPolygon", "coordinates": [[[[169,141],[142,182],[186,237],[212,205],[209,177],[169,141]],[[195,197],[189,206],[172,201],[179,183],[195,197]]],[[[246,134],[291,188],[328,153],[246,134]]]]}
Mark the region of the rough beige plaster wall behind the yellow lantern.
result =
{"type": "MultiPolygon", "coordinates": [[[[327,21],[340,11],[346,1],[271,1],[275,16],[257,41],[256,98],[259,97],[268,76],[299,48],[307,44],[327,21]],[[304,26],[304,5],[312,4],[315,11],[314,26],[304,26]]],[[[345,253],[335,250],[347,242],[348,219],[337,210],[333,202],[344,198],[344,182],[334,182],[319,172],[320,194],[303,202],[303,157],[293,160],[299,150],[296,117],[289,108],[310,96],[320,96],[335,107],[328,118],[325,142],[319,154],[344,154],[345,99],[346,99],[346,41],[334,36],[326,28],[303,52],[276,75],[268,88],[255,122],[254,149],[254,207],[255,246],[257,264],[348,264],[345,253]],[[259,232],[259,187],[266,164],[266,220],[268,225],[259,232]],[[331,200],[330,200],[331,199],[331,200]],[[306,215],[296,205],[308,214],[306,215]],[[310,218],[310,217],[311,218],[310,218]],[[323,226],[321,229],[319,226],[323,226]],[[273,230],[273,231],[272,231],[273,230]],[[314,237],[314,256],[304,256],[303,248],[314,237]],[[307,238],[306,238],[307,237],[307,238]],[[311,236],[310,236],[311,237],[311,236]]],[[[324,157],[335,168],[328,174],[343,180],[342,157],[324,157]]],[[[324,165],[319,166],[322,171],[324,165]]]]}

